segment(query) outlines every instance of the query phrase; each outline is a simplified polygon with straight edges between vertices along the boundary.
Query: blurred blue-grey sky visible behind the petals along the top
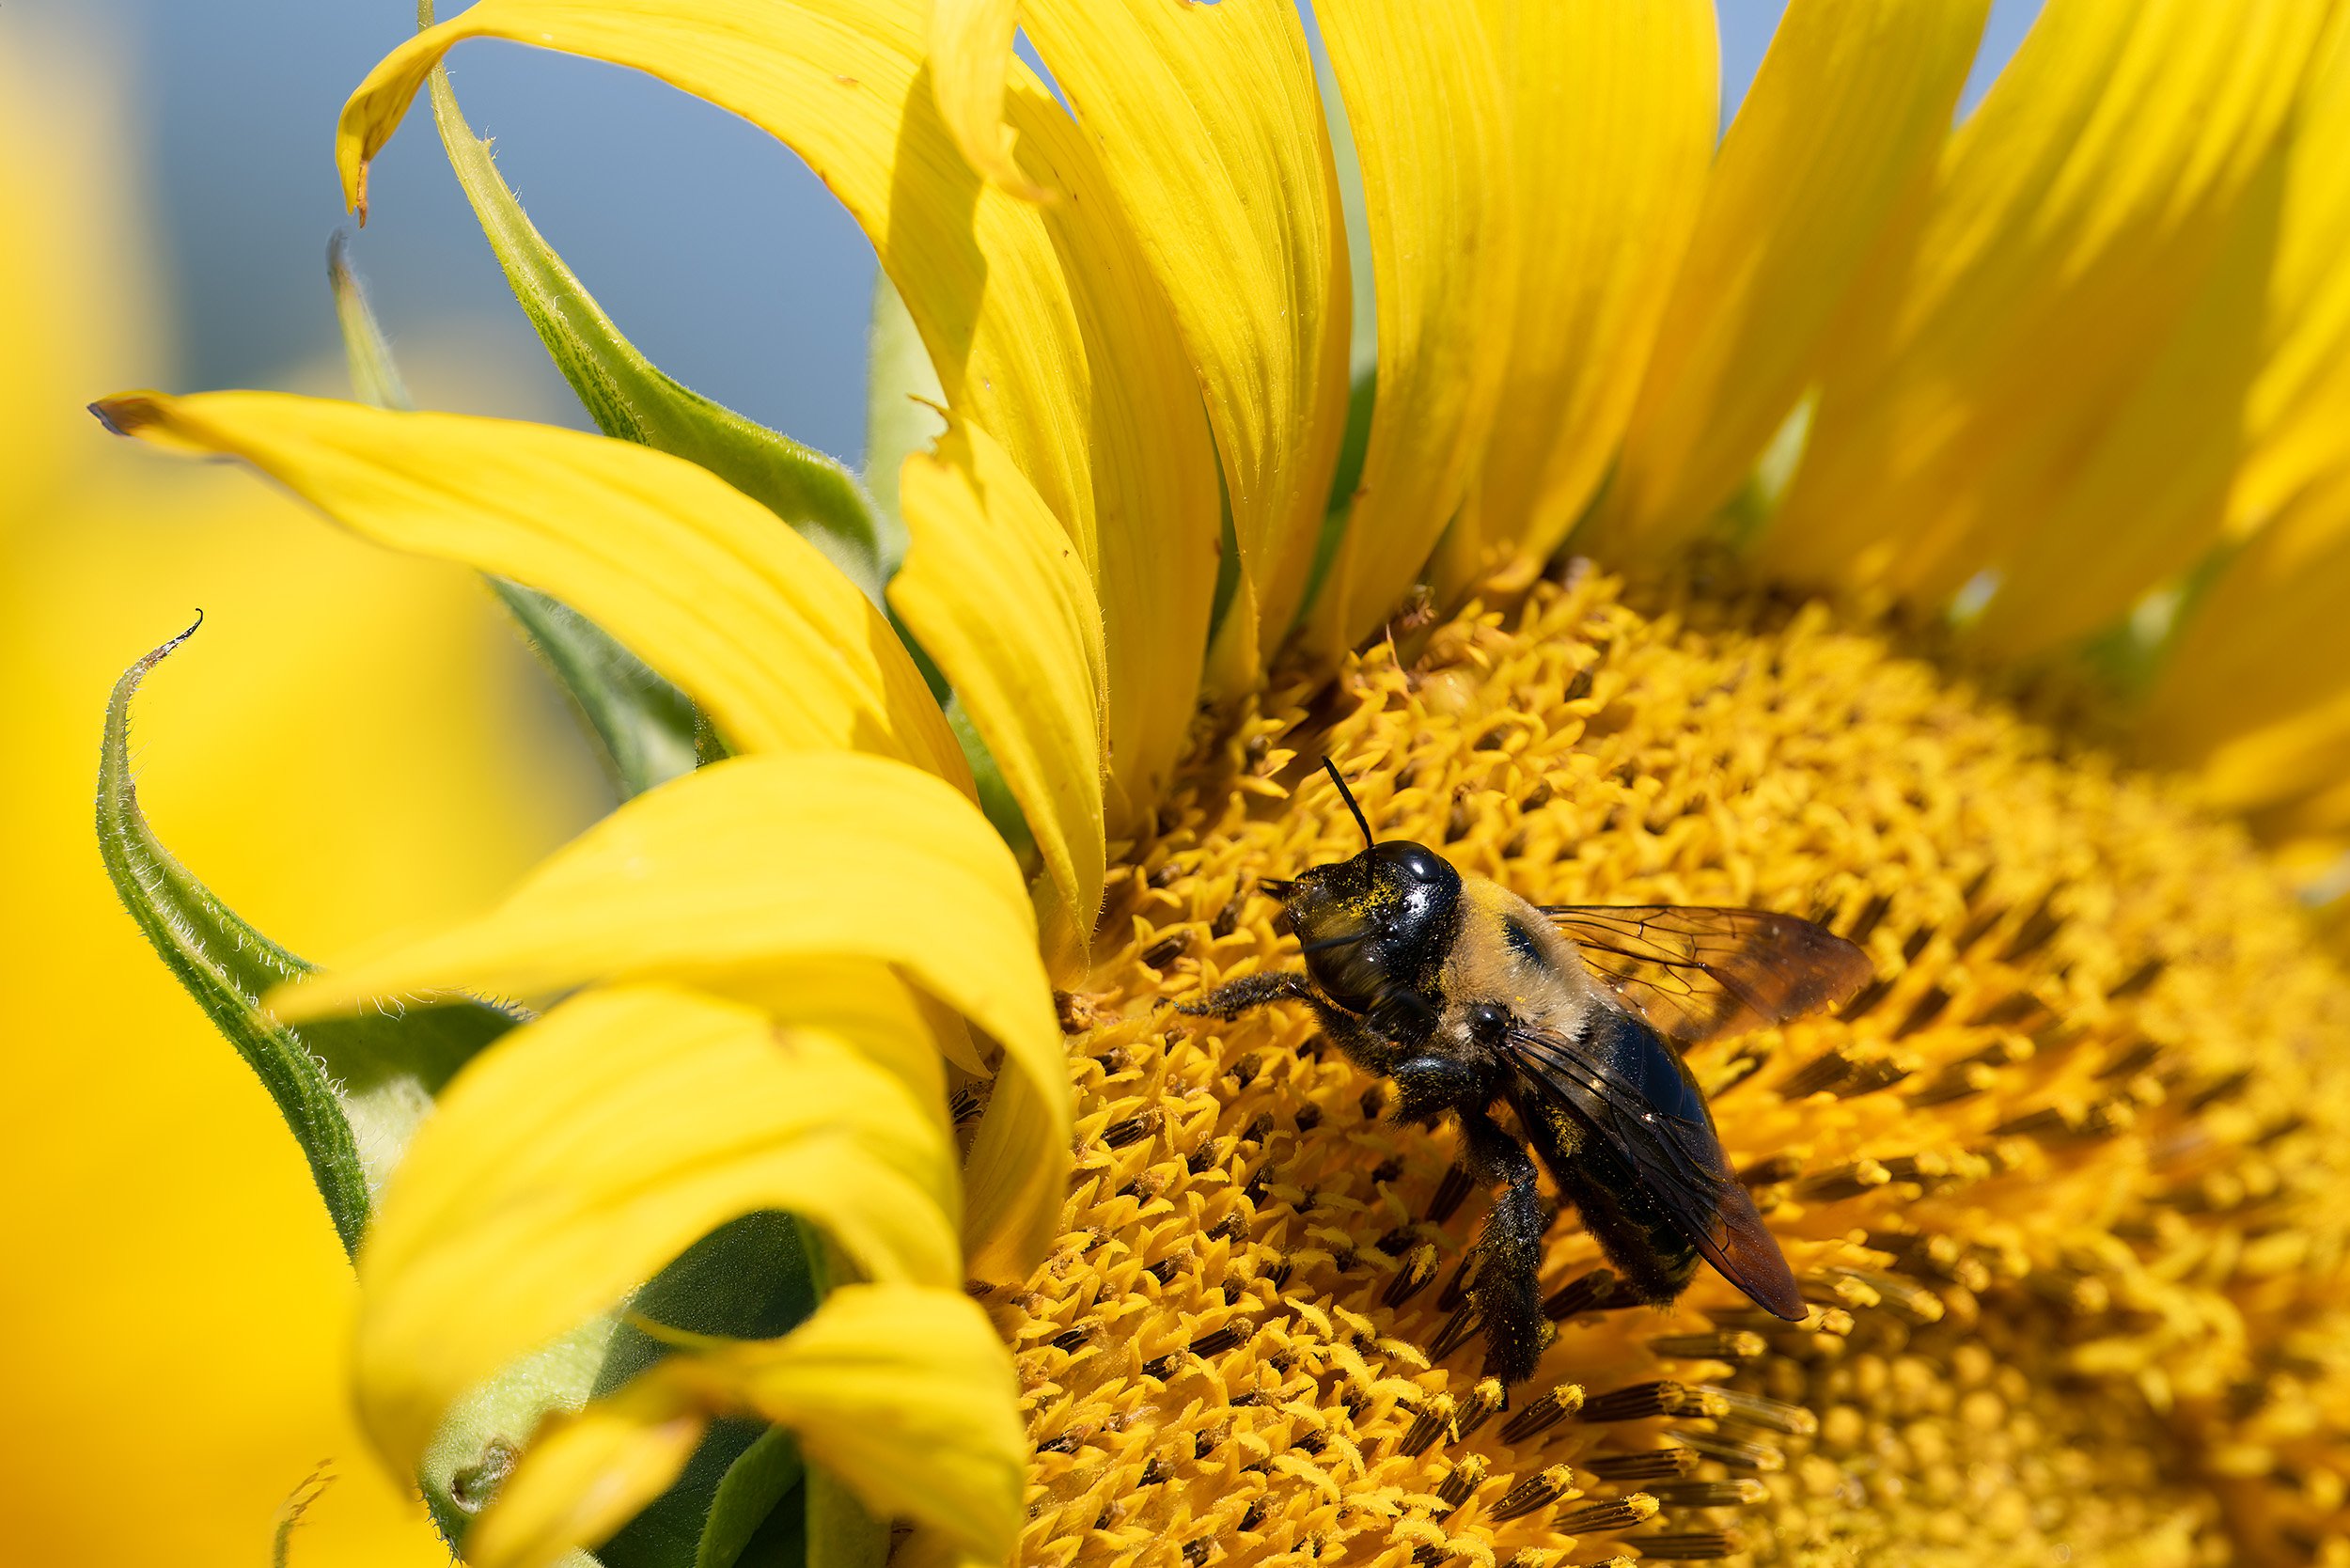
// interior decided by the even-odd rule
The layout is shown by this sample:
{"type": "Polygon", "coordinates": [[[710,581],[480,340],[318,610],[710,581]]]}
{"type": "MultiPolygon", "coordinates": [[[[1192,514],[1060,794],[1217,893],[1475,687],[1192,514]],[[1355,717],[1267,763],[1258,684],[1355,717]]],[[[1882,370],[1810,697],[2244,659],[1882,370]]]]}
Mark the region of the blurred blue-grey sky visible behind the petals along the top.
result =
{"type": "MultiPolygon", "coordinates": [[[[155,378],[282,383],[336,353],[327,237],[345,223],[334,115],[414,28],[411,0],[16,0],[94,31],[127,73],[179,343],[155,378]]],[[[456,5],[444,5],[456,9],[456,5]]],[[[1718,0],[1725,118],[1779,0],[1718,0]]],[[[1995,0],[1972,106],[2040,0],[1995,0]]],[[[658,82],[465,45],[451,75],[505,179],[620,327],[670,374],[855,461],[872,247],[764,132],[658,82]]],[[[416,120],[376,162],[355,256],[395,343],[461,343],[508,411],[571,409],[416,120]]]]}

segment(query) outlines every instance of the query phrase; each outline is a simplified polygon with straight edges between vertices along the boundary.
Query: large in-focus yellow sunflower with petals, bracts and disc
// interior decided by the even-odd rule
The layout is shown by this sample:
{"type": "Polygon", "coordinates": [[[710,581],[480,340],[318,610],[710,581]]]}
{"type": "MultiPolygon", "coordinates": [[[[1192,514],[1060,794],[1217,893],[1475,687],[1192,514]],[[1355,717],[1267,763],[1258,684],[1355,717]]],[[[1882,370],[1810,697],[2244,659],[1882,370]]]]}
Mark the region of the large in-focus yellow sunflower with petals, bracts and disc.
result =
{"type": "Polygon", "coordinates": [[[101,414],[545,595],[632,792],[228,1009],[294,1079],[352,1009],[470,1020],[313,1166],[367,1429],[475,1568],[2350,1556],[2350,990],[2289,877],[2350,823],[2350,16],[2049,0],[1950,129],[1983,12],[1795,0],[1716,146],[1694,0],[1316,7],[1356,381],[1281,0],[479,0],[362,82],[355,205],[430,85],[606,435],[101,414]],[[827,181],[919,339],[886,508],[627,348],[468,38],[827,181]],[[1866,947],[1690,1053],[1800,1324],[1626,1309],[1567,1220],[1504,1387],[1452,1133],[1163,1006],[1295,952],[1323,755],[1530,898],[1866,947]]]}

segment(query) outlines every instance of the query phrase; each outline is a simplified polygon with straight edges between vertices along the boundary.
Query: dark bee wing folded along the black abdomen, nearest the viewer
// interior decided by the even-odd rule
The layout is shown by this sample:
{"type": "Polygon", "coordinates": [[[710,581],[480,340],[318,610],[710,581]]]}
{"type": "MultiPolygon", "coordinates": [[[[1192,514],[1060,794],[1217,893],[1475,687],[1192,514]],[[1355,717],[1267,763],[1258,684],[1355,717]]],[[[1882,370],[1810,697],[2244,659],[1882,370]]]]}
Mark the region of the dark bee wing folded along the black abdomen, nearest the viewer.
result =
{"type": "Polygon", "coordinates": [[[1520,1081],[1600,1138],[1723,1279],[1788,1321],[1802,1316],[1786,1255],[1730,1171],[1704,1095],[1654,1030],[1600,1009],[1584,1039],[1520,1027],[1506,1051],[1520,1081]]]}

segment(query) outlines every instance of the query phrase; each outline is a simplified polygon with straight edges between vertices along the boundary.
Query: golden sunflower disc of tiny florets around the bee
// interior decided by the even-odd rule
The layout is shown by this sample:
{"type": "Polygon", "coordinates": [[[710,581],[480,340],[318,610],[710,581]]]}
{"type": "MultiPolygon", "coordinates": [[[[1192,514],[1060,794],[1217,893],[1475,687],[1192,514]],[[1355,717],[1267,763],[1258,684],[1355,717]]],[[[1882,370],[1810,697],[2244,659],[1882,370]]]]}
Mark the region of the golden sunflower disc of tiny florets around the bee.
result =
{"type": "Polygon", "coordinates": [[[2350,1563],[2350,987],[2176,783],[1821,607],[1586,569],[1201,719],[1062,1006],[1062,1234],[985,1300],[1025,1563],[2350,1563]],[[1755,905],[1875,964],[1701,1046],[1786,1324],[1626,1305],[1565,1206],[1535,1378],[1488,1194],[1302,1006],[1260,879],[1382,837],[1535,903],[1755,905]]]}

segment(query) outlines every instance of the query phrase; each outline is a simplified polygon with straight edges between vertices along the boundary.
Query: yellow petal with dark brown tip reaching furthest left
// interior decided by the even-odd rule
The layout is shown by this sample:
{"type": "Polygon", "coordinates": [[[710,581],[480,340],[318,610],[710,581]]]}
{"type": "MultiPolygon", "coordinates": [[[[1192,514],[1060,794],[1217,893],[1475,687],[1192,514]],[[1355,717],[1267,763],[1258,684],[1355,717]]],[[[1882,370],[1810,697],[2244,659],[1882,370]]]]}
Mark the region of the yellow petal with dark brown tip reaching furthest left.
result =
{"type": "Polygon", "coordinates": [[[240,456],[376,543],[555,595],[684,686],[738,750],[872,750],[971,790],[881,611],[693,463],[552,425],[282,393],[99,407],[129,435],[240,456]]]}

